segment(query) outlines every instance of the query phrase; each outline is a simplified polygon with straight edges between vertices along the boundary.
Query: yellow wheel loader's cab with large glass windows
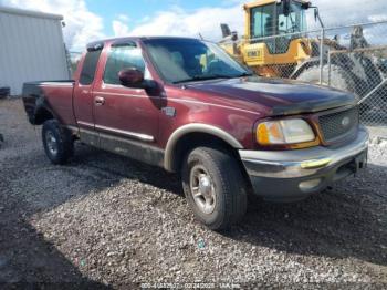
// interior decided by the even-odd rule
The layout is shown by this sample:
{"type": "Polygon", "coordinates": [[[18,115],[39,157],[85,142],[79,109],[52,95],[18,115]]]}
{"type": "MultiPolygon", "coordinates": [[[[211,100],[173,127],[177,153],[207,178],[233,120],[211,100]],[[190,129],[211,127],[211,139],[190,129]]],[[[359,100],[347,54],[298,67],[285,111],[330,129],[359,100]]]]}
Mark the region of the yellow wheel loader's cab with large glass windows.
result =
{"type": "Polygon", "coordinates": [[[243,62],[255,66],[261,75],[289,76],[284,73],[312,53],[310,40],[303,37],[307,30],[305,10],[310,7],[310,2],[299,0],[260,0],[245,4],[243,62]]]}

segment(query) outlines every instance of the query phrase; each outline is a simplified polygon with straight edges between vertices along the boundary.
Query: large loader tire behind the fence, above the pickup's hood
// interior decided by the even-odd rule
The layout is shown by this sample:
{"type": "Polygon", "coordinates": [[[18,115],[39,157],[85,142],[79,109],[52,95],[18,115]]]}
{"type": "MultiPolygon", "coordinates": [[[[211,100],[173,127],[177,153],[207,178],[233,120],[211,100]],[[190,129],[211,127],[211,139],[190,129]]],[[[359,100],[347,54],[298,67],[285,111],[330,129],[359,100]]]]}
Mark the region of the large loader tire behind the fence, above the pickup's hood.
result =
{"type": "MultiPolygon", "coordinates": [[[[324,83],[328,82],[328,65],[324,65],[323,68],[323,79],[324,83]]],[[[318,84],[320,83],[320,66],[312,66],[305,71],[303,71],[297,80],[318,84]]],[[[332,87],[356,93],[356,85],[353,75],[349,72],[345,72],[342,68],[337,65],[331,65],[331,84],[332,87]]]]}

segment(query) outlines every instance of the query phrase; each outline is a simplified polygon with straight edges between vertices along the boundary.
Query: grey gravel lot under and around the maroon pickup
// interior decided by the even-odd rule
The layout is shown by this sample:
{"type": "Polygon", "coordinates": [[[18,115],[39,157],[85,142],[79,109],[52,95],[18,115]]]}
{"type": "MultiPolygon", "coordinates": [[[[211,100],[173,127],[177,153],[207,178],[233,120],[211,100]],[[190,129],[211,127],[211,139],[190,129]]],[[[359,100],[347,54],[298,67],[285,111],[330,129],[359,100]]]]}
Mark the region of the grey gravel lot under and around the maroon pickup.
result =
{"type": "Polygon", "coordinates": [[[358,178],[299,204],[251,203],[220,235],[161,169],[83,145],[51,165],[20,100],[0,101],[0,283],[387,283],[387,142],[374,139],[358,178]]]}

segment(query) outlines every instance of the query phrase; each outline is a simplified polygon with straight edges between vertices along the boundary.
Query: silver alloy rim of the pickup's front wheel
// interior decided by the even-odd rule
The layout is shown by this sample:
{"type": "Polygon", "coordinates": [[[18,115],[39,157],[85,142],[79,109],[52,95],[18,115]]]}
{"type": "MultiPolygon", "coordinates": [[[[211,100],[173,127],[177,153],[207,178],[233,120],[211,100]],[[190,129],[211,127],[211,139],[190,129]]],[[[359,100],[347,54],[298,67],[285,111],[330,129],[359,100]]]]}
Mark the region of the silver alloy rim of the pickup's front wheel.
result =
{"type": "Polygon", "coordinates": [[[190,189],[199,209],[205,214],[211,214],[215,210],[217,197],[212,178],[203,166],[197,165],[191,169],[190,189]]]}

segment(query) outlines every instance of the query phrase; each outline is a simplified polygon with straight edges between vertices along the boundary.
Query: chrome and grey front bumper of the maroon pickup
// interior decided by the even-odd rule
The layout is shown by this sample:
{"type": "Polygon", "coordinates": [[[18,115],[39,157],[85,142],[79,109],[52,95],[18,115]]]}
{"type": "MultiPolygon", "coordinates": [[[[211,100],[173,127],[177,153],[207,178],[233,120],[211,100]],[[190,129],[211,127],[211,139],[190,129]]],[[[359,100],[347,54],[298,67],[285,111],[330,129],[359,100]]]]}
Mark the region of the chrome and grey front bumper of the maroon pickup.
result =
{"type": "Polygon", "coordinates": [[[240,151],[239,154],[257,194],[268,199],[281,196],[301,199],[355,172],[355,165],[366,162],[367,151],[368,132],[360,127],[357,137],[341,147],[240,151]],[[320,182],[305,189],[303,185],[313,180],[320,182]]]}

